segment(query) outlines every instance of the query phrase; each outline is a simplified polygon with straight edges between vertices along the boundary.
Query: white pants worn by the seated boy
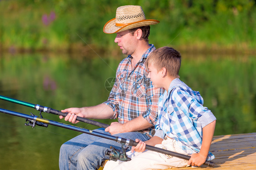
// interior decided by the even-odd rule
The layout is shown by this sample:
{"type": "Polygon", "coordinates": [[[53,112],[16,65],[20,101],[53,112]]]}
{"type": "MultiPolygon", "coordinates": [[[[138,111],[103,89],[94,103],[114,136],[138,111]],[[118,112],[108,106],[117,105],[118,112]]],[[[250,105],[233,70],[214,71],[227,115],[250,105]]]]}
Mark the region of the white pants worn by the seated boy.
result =
{"type": "MultiPolygon", "coordinates": [[[[178,152],[181,154],[188,155],[185,151],[182,150],[174,139],[165,138],[162,144],[157,144],[155,147],[167,149],[173,152],[178,152]]],[[[170,155],[165,155],[162,153],[154,152],[151,150],[146,150],[144,152],[127,152],[129,158],[132,158],[131,161],[107,161],[104,166],[104,170],[152,170],[152,169],[167,169],[172,167],[186,167],[188,161],[172,157],[170,155]]]]}

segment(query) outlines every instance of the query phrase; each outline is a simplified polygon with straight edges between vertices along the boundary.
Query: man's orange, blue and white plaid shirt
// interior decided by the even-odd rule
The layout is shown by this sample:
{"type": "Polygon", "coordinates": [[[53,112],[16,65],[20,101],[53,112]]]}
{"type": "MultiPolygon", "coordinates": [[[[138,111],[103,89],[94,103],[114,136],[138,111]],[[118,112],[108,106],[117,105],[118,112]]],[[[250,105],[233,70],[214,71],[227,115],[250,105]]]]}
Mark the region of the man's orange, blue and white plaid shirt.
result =
{"type": "Polygon", "coordinates": [[[150,137],[155,132],[158,98],[163,94],[163,89],[154,88],[147,78],[148,70],[144,64],[147,56],[154,50],[154,45],[150,45],[134,68],[132,68],[131,55],[119,63],[115,84],[108,100],[104,102],[114,111],[112,119],[118,117],[119,123],[128,122],[142,115],[153,127],[140,132],[150,137]]]}

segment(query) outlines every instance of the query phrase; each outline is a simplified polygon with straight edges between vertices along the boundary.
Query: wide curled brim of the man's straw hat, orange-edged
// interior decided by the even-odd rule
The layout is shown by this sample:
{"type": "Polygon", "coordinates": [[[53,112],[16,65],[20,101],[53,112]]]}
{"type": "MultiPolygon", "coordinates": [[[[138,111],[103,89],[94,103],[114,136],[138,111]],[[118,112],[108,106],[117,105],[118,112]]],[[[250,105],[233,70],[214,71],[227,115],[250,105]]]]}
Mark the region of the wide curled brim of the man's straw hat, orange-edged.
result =
{"type": "Polygon", "coordinates": [[[141,26],[154,25],[157,23],[160,23],[160,21],[158,21],[158,20],[141,20],[141,21],[137,21],[134,23],[129,23],[123,27],[117,27],[117,26],[115,26],[115,18],[113,18],[112,20],[109,20],[104,25],[103,32],[106,34],[113,34],[113,33],[129,30],[129,29],[137,28],[137,27],[141,27],[141,26]]]}

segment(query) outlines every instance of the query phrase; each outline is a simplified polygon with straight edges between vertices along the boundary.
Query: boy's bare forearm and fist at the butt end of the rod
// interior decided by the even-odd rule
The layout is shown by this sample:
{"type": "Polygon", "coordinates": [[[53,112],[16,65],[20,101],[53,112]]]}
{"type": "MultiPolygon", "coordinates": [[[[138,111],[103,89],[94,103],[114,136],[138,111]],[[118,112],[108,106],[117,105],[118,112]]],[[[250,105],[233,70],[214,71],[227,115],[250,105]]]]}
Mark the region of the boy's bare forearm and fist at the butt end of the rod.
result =
{"type": "Polygon", "coordinates": [[[213,139],[215,124],[216,120],[203,127],[203,139],[200,152],[191,154],[188,165],[201,166],[203,163],[205,163],[213,139]]]}

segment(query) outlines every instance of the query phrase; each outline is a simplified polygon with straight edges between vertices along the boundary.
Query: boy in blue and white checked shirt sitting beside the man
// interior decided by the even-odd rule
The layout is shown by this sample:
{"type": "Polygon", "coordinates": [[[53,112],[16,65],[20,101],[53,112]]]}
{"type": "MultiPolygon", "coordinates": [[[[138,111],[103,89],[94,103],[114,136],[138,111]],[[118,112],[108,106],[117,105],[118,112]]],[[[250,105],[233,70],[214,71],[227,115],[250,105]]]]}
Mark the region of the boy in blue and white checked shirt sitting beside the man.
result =
{"type": "MultiPolygon", "coordinates": [[[[171,47],[153,51],[145,62],[148,78],[155,88],[166,91],[158,101],[156,133],[146,142],[132,147],[131,161],[108,161],[108,169],[167,169],[171,167],[201,166],[214,155],[209,152],[216,117],[206,107],[200,93],[179,80],[181,55],[171,47]],[[147,150],[146,144],[191,155],[189,161],[147,150]],[[145,151],[145,152],[144,152],[145,151]],[[143,153],[138,153],[143,152],[143,153]]],[[[129,155],[129,152],[127,152],[129,155]]]]}

